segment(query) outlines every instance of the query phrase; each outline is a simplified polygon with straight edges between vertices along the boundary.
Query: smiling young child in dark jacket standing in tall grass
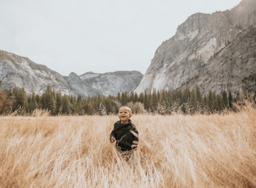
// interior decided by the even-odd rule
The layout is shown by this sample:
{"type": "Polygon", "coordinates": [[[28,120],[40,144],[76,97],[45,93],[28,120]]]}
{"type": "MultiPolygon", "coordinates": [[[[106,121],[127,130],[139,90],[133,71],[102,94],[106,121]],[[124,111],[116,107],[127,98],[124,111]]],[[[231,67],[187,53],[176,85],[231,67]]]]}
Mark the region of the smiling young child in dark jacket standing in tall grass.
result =
{"type": "Polygon", "coordinates": [[[119,109],[119,121],[115,122],[114,129],[110,133],[110,142],[117,140],[116,146],[119,151],[129,151],[137,148],[139,133],[133,123],[131,123],[131,109],[123,106],[119,109]]]}

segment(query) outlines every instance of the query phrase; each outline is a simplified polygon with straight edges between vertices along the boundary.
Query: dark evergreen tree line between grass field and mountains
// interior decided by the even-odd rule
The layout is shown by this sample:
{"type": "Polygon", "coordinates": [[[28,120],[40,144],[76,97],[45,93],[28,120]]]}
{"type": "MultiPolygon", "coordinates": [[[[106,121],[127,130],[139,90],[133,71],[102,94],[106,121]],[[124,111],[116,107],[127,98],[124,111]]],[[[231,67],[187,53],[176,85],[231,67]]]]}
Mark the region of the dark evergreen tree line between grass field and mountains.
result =
{"type": "Polygon", "coordinates": [[[42,95],[27,95],[24,89],[11,89],[0,91],[0,113],[10,113],[23,109],[26,113],[32,113],[35,109],[46,109],[51,115],[107,115],[117,113],[121,105],[131,107],[134,113],[160,113],[172,112],[216,113],[224,110],[236,110],[233,103],[243,105],[243,97],[247,97],[255,103],[255,95],[244,95],[240,89],[236,96],[230,91],[223,91],[216,95],[211,90],[207,95],[201,95],[199,86],[195,89],[176,91],[154,91],[152,93],[118,93],[117,96],[96,96],[83,98],[81,95],[61,95],[61,91],[55,92],[48,85],[42,95]],[[4,96],[4,97],[3,97],[4,96]]]}

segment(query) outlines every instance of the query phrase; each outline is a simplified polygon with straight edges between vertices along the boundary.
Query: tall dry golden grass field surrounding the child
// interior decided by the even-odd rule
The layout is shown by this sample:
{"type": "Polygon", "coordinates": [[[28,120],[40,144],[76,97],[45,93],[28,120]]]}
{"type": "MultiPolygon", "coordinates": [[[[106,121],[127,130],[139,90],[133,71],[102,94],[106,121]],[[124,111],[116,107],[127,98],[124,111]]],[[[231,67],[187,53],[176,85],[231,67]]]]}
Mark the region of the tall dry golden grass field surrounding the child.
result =
{"type": "Polygon", "coordinates": [[[117,116],[0,117],[0,187],[256,187],[256,110],[134,115],[129,161],[117,116]]]}

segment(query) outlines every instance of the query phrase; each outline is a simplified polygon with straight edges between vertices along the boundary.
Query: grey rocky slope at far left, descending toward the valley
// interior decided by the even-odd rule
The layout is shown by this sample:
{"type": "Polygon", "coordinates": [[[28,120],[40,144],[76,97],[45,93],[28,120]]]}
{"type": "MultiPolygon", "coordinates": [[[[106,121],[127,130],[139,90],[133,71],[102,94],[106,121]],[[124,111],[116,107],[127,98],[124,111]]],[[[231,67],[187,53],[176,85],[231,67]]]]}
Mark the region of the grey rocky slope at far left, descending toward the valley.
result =
{"type": "Polygon", "coordinates": [[[0,52],[1,89],[24,88],[26,93],[42,94],[47,85],[53,90],[72,94],[63,76],[44,65],[9,52],[0,52]]]}

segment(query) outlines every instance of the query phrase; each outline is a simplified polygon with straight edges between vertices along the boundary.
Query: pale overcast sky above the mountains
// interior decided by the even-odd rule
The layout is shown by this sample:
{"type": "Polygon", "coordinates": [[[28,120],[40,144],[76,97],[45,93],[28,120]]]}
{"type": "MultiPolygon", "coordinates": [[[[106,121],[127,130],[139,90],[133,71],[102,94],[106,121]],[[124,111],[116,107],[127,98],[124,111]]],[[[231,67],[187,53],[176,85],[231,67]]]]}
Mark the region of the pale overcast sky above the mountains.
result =
{"type": "Polygon", "coordinates": [[[241,0],[0,0],[0,50],[68,76],[146,73],[156,49],[194,13],[241,0]]]}

